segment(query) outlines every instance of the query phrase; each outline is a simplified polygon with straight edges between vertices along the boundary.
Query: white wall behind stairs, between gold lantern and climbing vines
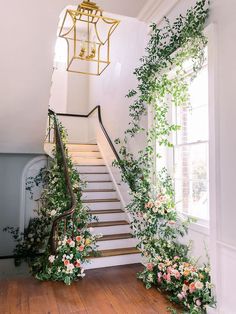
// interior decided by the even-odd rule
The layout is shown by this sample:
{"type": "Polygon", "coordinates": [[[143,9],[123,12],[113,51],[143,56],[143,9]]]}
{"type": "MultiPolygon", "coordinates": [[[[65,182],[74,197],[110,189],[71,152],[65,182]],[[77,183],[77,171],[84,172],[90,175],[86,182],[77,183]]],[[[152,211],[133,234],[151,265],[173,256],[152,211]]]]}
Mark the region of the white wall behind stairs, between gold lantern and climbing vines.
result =
{"type": "MultiPolygon", "coordinates": [[[[101,106],[102,119],[105,128],[112,141],[117,137],[123,137],[124,131],[128,128],[129,105],[132,100],[125,95],[129,89],[137,86],[133,75],[135,67],[139,64],[140,57],[144,54],[147,41],[147,25],[133,18],[114,16],[121,20],[111,38],[111,64],[99,77],[90,77],[89,104],[90,109],[97,105],[101,106]]],[[[90,139],[94,138],[93,125],[97,121],[94,115],[91,119],[89,131],[90,139]]],[[[144,121],[147,126],[147,119],[144,121]]],[[[114,155],[111,152],[99,127],[96,129],[97,141],[101,144],[102,153],[107,163],[111,165],[114,155]]],[[[137,152],[143,147],[145,138],[131,141],[130,150],[137,152]]],[[[118,183],[120,183],[119,172],[112,169],[118,183]]],[[[127,186],[120,186],[124,192],[123,196],[128,200],[127,186]]]]}

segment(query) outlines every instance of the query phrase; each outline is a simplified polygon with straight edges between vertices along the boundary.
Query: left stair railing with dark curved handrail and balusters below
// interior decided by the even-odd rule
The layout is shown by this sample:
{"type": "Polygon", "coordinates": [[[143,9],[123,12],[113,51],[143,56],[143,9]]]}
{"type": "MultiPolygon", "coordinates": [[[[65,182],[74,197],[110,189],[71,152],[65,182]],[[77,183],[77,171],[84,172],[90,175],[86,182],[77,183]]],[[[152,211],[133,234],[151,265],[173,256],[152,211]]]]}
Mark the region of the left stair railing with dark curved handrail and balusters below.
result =
{"type": "MultiPolygon", "coordinates": [[[[64,221],[64,235],[66,235],[68,218],[72,221],[72,225],[74,224],[73,215],[75,212],[77,202],[76,202],[75,194],[73,192],[72,183],[71,183],[71,179],[70,179],[70,175],[68,171],[66,153],[65,153],[65,148],[62,141],[57,114],[51,109],[49,109],[48,116],[49,116],[48,141],[49,143],[53,143],[56,145],[56,151],[61,156],[61,167],[63,168],[63,172],[64,172],[67,193],[68,193],[68,196],[70,197],[69,209],[65,211],[63,214],[61,214],[60,216],[58,216],[57,218],[55,218],[52,224],[51,235],[50,235],[49,241],[50,241],[51,253],[55,255],[56,250],[57,250],[57,245],[58,245],[58,226],[61,222],[64,221]],[[53,121],[53,124],[52,124],[52,121],[53,121]],[[53,138],[51,134],[52,129],[54,130],[53,138]]],[[[72,226],[72,238],[74,237],[73,230],[74,230],[74,227],[72,226]]]]}

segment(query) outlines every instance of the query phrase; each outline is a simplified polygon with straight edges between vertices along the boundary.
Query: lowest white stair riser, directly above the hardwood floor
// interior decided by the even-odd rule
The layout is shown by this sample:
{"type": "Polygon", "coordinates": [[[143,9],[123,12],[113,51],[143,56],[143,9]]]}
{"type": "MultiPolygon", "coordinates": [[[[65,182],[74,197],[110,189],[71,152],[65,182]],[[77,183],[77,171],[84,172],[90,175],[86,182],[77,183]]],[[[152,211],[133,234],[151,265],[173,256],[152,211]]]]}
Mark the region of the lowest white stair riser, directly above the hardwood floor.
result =
{"type": "Polygon", "coordinates": [[[89,264],[85,264],[85,269],[103,268],[118,265],[136,264],[141,262],[140,254],[129,254],[109,257],[92,258],[89,264]]]}

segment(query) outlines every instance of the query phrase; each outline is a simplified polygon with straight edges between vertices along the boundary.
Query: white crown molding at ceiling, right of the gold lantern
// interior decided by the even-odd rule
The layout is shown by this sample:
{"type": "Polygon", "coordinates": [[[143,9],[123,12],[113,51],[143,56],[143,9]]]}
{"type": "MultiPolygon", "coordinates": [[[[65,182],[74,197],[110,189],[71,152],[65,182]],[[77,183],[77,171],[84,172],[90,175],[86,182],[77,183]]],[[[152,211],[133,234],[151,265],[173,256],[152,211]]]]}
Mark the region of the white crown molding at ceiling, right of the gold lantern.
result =
{"type": "Polygon", "coordinates": [[[179,0],[148,0],[137,18],[146,23],[159,24],[178,2],[179,0]]]}

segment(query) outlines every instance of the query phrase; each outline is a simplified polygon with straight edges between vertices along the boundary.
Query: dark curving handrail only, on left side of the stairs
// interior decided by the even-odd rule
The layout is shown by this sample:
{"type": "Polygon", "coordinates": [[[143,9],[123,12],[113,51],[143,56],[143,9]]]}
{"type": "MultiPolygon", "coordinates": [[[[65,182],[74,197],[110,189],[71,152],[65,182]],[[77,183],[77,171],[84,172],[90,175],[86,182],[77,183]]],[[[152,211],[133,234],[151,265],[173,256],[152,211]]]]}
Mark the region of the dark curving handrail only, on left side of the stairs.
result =
{"type": "MultiPolygon", "coordinates": [[[[56,143],[56,149],[59,150],[61,153],[63,171],[64,171],[65,181],[66,181],[66,187],[67,187],[68,194],[69,194],[70,200],[71,200],[70,209],[65,211],[60,216],[58,216],[53,221],[53,224],[52,224],[51,235],[50,235],[50,247],[51,247],[52,254],[55,254],[56,253],[55,235],[56,235],[57,224],[59,221],[63,220],[64,218],[69,217],[69,216],[70,217],[73,216],[77,202],[76,202],[76,197],[75,197],[75,194],[73,192],[73,188],[72,188],[72,184],[71,184],[71,180],[70,180],[70,176],[69,176],[64,144],[63,144],[63,141],[61,138],[61,132],[60,132],[60,128],[59,128],[58,121],[57,121],[57,114],[51,109],[48,110],[48,113],[49,113],[49,117],[53,116],[53,119],[54,119],[54,132],[55,132],[54,140],[56,143]]],[[[49,131],[49,134],[50,134],[50,131],[49,131]]]]}

